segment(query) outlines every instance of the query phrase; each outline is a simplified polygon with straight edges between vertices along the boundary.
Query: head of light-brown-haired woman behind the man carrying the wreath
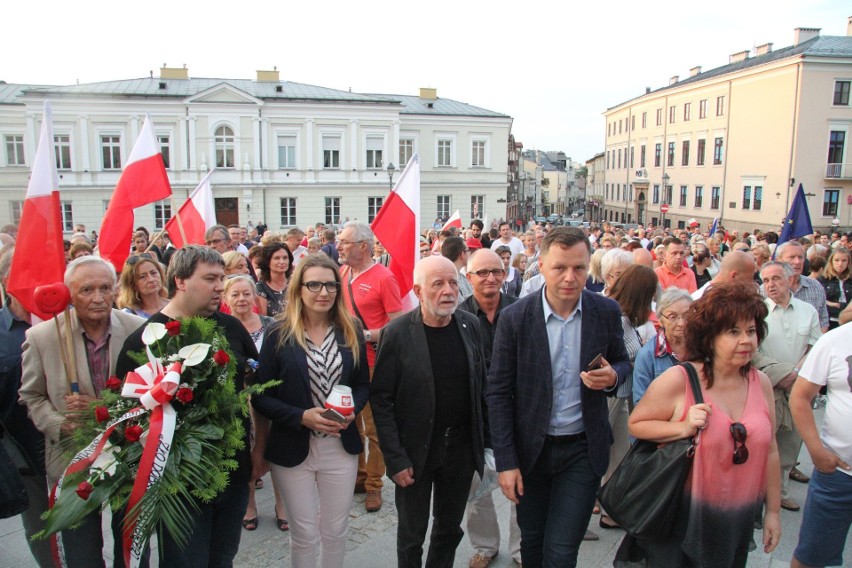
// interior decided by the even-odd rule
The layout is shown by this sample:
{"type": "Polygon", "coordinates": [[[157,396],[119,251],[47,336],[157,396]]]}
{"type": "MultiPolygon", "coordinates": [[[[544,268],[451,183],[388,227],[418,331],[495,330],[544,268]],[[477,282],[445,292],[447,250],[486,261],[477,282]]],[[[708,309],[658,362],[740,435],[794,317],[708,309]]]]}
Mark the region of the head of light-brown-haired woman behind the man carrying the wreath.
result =
{"type": "Polygon", "coordinates": [[[163,265],[149,252],[130,256],[118,279],[118,309],[149,318],[169,303],[163,265]]]}

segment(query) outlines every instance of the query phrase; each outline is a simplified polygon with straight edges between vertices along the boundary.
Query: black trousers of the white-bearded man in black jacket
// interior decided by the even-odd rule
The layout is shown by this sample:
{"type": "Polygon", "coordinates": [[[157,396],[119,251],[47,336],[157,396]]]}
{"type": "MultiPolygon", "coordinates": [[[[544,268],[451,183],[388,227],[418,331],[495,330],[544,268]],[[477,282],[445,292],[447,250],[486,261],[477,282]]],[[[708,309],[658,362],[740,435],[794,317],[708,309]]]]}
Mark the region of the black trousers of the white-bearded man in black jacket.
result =
{"type": "Polygon", "coordinates": [[[464,531],[461,528],[470,478],[474,472],[470,433],[437,433],[432,438],[423,472],[408,487],[396,487],[399,513],[396,547],[400,568],[419,568],[423,560],[423,541],[429,526],[432,505],[432,535],[427,568],[452,568],[456,548],[464,531]]]}

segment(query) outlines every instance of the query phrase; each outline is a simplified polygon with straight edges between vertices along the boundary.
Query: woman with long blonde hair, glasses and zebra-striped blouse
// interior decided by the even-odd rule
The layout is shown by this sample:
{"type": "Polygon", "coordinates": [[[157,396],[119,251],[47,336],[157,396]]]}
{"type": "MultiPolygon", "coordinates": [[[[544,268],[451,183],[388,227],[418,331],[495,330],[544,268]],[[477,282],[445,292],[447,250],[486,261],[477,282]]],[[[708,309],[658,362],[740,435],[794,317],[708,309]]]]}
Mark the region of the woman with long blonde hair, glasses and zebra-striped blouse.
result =
{"type": "Polygon", "coordinates": [[[256,379],[281,380],[252,398],[271,422],[268,432],[258,424],[254,451],[271,463],[290,515],[291,564],[340,568],[363,449],[353,421],[367,404],[370,374],[363,334],[327,256],[308,255],[296,267],[286,306],[261,348],[256,379]],[[352,411],[338,420],[324,408],[333,390],[351,393],[352,411]]]}

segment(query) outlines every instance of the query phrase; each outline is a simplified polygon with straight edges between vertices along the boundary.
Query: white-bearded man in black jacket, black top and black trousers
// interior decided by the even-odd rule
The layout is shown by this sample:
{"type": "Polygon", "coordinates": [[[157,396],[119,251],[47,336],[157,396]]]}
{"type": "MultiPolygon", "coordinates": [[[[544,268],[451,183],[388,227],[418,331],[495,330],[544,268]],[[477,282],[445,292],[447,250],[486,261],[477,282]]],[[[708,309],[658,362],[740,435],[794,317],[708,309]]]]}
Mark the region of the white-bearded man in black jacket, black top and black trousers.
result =
{"type": "Polygon", "coordinates": [[[482,475],[479,322],[456,311],[458,272],[440,256],[414,270],[420,307],[382,333],[370,405],[399,511],[397,559],[419,567],[435,488],[427,566],[451,567],[474,471],[482,475]]]}

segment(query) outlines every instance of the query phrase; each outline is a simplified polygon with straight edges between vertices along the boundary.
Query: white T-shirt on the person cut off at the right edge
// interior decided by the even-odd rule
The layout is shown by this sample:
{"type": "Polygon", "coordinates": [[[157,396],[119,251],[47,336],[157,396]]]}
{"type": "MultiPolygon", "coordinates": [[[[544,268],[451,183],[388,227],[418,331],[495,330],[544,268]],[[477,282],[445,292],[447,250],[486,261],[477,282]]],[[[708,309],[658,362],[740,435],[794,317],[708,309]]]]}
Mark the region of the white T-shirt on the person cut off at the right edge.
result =
{"type": "MultiPolygon", "coordinates": [[[[808,353],[799,375],[815,385],[828,385],[820,438],[840,459],[852,463],[852,324],[823,335],[808,353]]],[[[840,468],[837,471],[852,475],[840,468]]]]}

